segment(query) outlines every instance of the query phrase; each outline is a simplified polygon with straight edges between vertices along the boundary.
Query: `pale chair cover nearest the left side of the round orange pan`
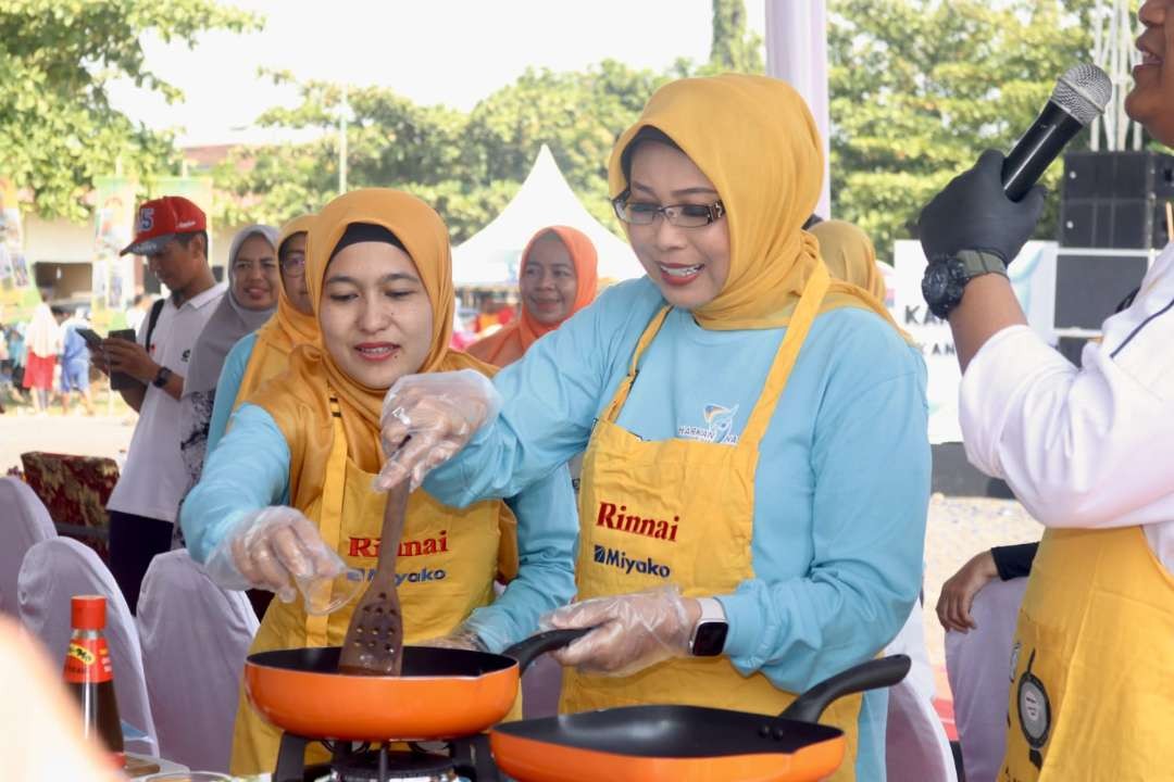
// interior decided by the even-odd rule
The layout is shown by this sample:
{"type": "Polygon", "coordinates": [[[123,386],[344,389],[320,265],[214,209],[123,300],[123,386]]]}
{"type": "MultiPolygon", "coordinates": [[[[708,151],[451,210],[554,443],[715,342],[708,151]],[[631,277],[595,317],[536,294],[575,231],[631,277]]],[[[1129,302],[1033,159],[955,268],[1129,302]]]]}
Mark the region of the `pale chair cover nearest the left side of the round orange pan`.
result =
{"type": "Polygon", "coordinates": [[[178,549],[151,560],[137,620],[160,754],[193,769],[228,771],[231,715],[258,626],[249,599],[216,586],[178,549]]]}

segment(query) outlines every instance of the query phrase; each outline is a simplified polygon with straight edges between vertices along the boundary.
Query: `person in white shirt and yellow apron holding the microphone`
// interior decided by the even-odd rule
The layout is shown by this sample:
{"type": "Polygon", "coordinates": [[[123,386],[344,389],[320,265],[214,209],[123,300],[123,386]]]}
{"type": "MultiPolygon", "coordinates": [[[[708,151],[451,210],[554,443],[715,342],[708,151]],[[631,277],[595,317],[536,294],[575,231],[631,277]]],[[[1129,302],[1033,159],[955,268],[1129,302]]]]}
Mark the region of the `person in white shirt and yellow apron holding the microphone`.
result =
{"type": "MultiPolygon", "coordinates": [[[[1174,0],[1147,0],[1126,109],[1174,145],[1174,0]]],[[[1006,278],[1044,193],[1003,193],[985,152],[919,220],[923,288],[963,368],[966,454],[1047,529],[1011,650],[1000,778],[1165,778],[1174,769],[1174,245],[1072,366],[1006,278]],[[935,286],[949,272],[950,286],[935,286]],[[950,290],[945,290],[950,287],[950,290]]]]}

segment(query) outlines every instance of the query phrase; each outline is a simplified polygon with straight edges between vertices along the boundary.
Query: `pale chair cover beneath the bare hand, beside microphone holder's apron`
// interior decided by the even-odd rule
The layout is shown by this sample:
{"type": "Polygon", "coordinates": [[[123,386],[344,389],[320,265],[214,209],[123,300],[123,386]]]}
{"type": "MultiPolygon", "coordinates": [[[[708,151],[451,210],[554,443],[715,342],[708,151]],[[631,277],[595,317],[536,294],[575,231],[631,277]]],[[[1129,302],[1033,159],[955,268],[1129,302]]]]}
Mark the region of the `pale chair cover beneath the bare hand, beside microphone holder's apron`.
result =
{"type": "Polygon", "coordinates": [[[1026,578],[993,580],[970,608],[976,630],[946,633],[946,675],[954,699],[954,725],[966,782],[991,782],[1007,748],[1011,645],[1026,578]]]}

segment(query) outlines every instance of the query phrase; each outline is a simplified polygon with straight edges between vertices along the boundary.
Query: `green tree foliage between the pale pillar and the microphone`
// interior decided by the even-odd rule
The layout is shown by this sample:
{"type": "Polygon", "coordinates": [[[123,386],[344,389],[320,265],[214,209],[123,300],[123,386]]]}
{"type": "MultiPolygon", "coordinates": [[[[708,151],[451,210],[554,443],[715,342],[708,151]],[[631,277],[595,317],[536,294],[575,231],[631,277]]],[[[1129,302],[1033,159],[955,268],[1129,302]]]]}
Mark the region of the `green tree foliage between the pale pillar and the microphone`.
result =
{"type": "MultiPolygon", "coordinates": [[[[1092,0],[832,0],[831,196],[878,254],[987,148],[1007,151],[1092,48],[1092,0]]],[[[1087,132],[1071,149],[1087,148],[1087,132]]],[[[1061,164],[1044,177],[1055,189],[1061,164]]],[[[1055,236],[1057,200],[1037,236],[1055,236]]],[[[959,216],[964,219],[965,216],[959,216]]]]}

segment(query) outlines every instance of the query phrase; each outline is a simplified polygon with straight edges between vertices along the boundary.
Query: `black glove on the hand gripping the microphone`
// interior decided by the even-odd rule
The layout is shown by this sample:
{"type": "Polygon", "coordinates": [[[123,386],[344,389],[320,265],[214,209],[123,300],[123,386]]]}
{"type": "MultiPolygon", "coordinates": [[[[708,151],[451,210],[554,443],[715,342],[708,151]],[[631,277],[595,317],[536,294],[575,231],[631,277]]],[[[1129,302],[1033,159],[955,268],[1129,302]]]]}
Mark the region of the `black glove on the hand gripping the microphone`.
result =
{"type": "Polygon", "coordinates": [[[927,259],[960,250],[990,252],[1004,264],[1019,254],[1044,211],[1044,188],[1035,185],[1023,200],[1003,192],[1003,152],[989,149],[974,168],[950,181],[917,219],[927,259]]]}

